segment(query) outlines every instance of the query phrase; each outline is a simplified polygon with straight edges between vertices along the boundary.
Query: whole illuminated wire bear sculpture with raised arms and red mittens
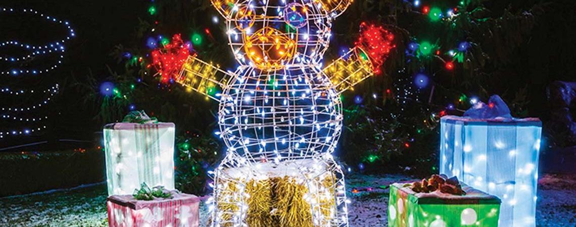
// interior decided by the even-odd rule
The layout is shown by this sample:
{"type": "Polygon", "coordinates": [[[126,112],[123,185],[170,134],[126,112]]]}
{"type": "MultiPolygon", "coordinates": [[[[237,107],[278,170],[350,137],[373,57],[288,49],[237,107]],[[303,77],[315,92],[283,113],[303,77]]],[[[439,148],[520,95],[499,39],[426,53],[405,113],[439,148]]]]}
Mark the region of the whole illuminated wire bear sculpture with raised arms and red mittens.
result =
{"type": "Polygon", "coordinates": [[[212,0],[240,64],[234,72],[188,56],[179,36],[166,45],[173,51],[152,53],[163,79],[220,103],[217,134],[228,151],[214,171],[213,226],[348,226],[331,156],[340,94],[378,73],[394,47],[391,33],[363,24],[356,47],[321,68],[331,22],[351,2],[212,0]]]}

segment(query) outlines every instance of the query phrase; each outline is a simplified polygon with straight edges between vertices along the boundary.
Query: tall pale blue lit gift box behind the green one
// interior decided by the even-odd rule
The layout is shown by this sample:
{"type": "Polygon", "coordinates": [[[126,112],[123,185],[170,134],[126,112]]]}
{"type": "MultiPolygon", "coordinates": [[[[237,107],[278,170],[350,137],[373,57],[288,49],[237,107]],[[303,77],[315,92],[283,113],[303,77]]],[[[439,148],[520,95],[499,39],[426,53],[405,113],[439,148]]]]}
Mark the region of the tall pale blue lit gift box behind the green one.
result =
{"type": "Polygon", "coordinates": [[[442,117],[440,174],[501,198],[499,226],[535,226],[541,126],[537,118],[442,117]]]}

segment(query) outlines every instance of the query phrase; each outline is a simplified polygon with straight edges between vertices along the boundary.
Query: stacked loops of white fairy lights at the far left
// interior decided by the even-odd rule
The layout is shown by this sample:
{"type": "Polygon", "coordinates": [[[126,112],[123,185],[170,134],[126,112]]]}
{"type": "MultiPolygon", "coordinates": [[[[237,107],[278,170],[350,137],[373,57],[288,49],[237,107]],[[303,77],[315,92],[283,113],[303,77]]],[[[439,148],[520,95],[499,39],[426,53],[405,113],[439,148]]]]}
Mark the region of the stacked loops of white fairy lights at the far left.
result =
{"type": "MultiPolygon", "coordinates": [[[[48,43],[32,44],[19,40],[6,40],[0,41],[0,63],[5,68],[0,68],[0,76],[34,76],[46,74],[55,70],[62,64],[65,52],[65,43],[75,36],[74,29],[67,21],[62,21],[57,18],[47,16],[33,9],[13,9],[0,7],[0,18],[2,21],[9,21],[9,17],[25,16],[41,18],[44,21],[60,25],[66,29],[66,34],[62,38],[48,43]],[[5,54],[16,49],[22,49],[21,54],[5,54]],[[38,60],[40,56],[47,56],[52,60],[38,60]],[[39,63],[39,66],[30,66],[33,63],[39,63]]],[[[48,104],[52,97],[59,91],[59,84],[54,84],[45,90],[35,89],[14,89],[12,87],[0,87],[0,97],[28,97],[30,95],[38,95],[39,93],[45,94],[44,99],[28,106],[0,106],[0,120],[3,122],[17,121],[26,122],[28,124],[39,124],[45,122],[48,116],[24,116],[33,111],[37,111],[48,104]]],[[[41,95],[40,94],[40,95],[41,95]]],[[[4,99],[4,98],[2,98],[4,99]]],[[[31,135],[32,133],[45,130],[46,125],[27,125],[17,126],[11,128],[5,125],[0,129],[0,138],[10,136],[31,135]]]]}

